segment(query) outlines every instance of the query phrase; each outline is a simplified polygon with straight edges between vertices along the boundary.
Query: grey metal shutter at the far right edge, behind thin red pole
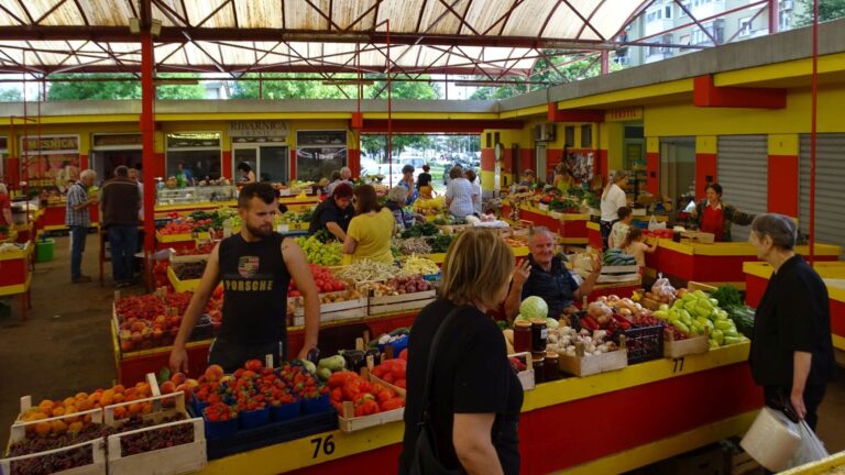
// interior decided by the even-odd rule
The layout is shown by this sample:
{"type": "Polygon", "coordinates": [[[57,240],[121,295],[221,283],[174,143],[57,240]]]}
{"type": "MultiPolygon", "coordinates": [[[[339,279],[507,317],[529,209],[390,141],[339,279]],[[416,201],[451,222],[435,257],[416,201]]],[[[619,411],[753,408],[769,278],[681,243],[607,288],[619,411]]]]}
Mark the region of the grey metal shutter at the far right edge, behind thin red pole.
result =
{"type": "MultiPolygon", "coordinates": [[[[810,233],[810,135],[801,135],[799,228],[810,233]]],[[[845,134],[819,134],[815,145],[815,240],[845,246],[845,134]]]]}

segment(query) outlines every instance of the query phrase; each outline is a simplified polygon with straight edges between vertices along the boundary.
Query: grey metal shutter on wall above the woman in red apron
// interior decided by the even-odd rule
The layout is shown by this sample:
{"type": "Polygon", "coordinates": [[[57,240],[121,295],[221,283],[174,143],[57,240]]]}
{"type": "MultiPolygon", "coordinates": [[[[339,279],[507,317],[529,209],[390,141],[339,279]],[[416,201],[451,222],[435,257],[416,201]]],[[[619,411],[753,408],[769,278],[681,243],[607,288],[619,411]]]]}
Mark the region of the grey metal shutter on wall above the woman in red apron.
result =
{"type": "MultiPolygon", "coordinates": [[[[769,144],[766,135],[721,135],[718,137],[717,181],[722,199],[744,213],[768,211],[769,144]]],[[[748,240],[751,227],[734,224],[734,241],[748,240]]]]}

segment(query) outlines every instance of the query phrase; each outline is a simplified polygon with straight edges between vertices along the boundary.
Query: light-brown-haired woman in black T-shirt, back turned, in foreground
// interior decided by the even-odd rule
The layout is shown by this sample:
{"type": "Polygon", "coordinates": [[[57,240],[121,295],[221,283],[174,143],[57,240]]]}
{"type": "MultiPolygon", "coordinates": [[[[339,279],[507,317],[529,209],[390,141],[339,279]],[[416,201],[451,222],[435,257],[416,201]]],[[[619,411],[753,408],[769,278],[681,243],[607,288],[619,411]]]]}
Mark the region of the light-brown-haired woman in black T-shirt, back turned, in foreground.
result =
{"type": "Polygon", "coordinates": [[[485,314],[504,301],[513,270],[514,254],[494,231],[469,229],[449,246],[438,299],[419,312],[408,341],[399,473],[415,465],[418,438],[425,434],[420,423],[434,434],[431,445],[445,468],[519,473],[523,388],[502,332],[485,314]],[[431,353],[441,325],[437,352],[431,353]],[[426,395],[429,358],[435,360],[426,395]]]}

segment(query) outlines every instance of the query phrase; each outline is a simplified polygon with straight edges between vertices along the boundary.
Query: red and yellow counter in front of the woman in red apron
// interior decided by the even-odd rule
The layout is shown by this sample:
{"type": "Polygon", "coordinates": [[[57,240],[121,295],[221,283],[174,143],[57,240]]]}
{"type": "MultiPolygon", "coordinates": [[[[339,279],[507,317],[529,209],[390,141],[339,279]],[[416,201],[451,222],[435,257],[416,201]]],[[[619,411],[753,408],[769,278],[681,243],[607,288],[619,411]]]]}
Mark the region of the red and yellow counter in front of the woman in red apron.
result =
{"type": "MultiPolygon", "coordinates": [[[[809,254],[809,246],[795,246],[801,255],[809,254]]],[[[837,261],[842,247],[830,244],[815,244],[815,257],[819,261],[837,261]]],[[[731,284],[745,289],[743,263],[755,262],[757,252],[747,242],[729,243],[677,243],[661,239],[657,251],[646,254],[646,275],[655,277],[657,273],[683,281],[699,281],[713,286],[731,284]]]]}

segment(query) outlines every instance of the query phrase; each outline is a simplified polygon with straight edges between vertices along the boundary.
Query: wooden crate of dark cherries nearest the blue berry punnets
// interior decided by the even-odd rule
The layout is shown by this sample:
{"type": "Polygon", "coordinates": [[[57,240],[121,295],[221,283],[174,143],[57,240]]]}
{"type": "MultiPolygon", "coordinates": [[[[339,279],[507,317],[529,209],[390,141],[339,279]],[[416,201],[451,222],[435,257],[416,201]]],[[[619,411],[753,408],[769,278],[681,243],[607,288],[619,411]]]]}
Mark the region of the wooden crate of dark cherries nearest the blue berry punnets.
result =
{"type": "Polygon", "coordinates": [[[202,418],[195,418],[109,435],[108,455],[108,467],[111,474],[151,473],[153,467],[156,475],[197,472],[208,464],[205,423],[202,418]],[[123,438],[182,424],[193,426],[194,442],[128,456],[121,453],[120,442],[123,438]]]}

